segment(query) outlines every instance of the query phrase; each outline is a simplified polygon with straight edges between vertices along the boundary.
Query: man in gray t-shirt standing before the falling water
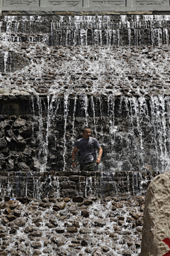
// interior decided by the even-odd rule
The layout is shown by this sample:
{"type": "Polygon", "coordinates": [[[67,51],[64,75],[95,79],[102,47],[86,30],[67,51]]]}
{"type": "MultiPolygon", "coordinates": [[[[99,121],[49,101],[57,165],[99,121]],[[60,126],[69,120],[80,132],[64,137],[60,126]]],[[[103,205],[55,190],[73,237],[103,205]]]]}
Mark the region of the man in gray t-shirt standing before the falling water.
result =
{"type": "Polygon", "coordinates": [[[100,164],[101,156],[103,150],[98,140],[90,137],[91,129],[89,127],[84,127],[83,138],[78,139],[74,144],[74,149],[72,151],[72,166],[75,168],[77,165],[75,157],[77,150],[80,151],[80,171],[94,171],[95,165],[100,164]],[[96,149],[98,149],[98,158],[96,159],[96,149]]]}

